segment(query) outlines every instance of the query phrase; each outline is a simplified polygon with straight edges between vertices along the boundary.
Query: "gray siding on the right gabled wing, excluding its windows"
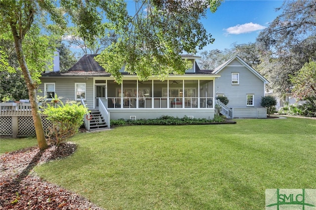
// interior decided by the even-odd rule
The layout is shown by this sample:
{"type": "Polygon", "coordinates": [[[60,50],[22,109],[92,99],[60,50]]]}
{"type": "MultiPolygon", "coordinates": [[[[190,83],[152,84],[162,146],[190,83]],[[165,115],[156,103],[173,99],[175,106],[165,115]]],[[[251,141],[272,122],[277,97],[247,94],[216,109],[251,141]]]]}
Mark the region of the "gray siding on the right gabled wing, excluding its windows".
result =
{"type": "Polygon", "coordinates": [[[224,94],[229,99],[230,108],[247,107],[247,94],[253,94],[254,106],[261,107],[264,82],[246,67],[235,66],[237,63],[233,61],[218,73],[221,77],[215,80],[215,93],[224,94]],[[239,73],[239,85],[232,85],[232,72],[239,73]]]}

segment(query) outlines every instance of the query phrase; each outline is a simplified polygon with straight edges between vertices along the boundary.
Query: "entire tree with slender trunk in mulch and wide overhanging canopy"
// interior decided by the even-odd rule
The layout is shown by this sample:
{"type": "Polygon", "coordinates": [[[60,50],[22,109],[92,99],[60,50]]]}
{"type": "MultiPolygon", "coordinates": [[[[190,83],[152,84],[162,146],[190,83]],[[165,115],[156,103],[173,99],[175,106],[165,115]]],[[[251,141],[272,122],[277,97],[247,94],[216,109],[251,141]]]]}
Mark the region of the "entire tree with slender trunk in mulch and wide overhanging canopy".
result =
{"type": "Polygon", "coordinates": [[[40,149],[45,149],[47,143],[36,89],[42,64],[52,57],[53,50],[48,48],[55,42],[52,39],[56,39],[52,35],[63,35],[67,20],[77,27],[79,37],[88,46],[93,46],[95,37],[102,35],[105,29],[118,35],[118,42],[107,48],[99,59],[117,82],[121,78],[118,71],[124,64],[128,72],[137,73],[140,79],[152,75],[163,79],[170,72],[183,73],[188,67],[180,53],[194,53],[197,47],[213,42],[198,19],[205,16],[207,8],[215,12],[220,2],[136,0],[135,14],[130,16],[124,0],[59,0],[58,6],[49,0],[0,0],[1,32],[9,28],[13,37],[17,60],[28,88],[40,149]],[[46,34],[42,34],[42,29],[47,30],[46,34]],[[24,43],[27,37],[30,37],[31,45],[24,43]]]}

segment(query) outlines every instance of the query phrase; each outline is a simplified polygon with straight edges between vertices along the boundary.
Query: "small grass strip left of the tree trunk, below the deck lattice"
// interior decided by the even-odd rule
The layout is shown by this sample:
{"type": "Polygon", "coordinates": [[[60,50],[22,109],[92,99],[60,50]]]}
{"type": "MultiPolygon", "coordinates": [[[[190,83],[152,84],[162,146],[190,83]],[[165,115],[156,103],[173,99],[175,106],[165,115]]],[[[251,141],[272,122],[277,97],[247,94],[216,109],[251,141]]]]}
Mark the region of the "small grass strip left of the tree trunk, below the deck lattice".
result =
{"type": "Polygon", "coordinates": [[[19,150],[26,147],[35,146],[38,141],[34,138],[4,138],[0,139],[0,154],[10,151],[19,150]]]}

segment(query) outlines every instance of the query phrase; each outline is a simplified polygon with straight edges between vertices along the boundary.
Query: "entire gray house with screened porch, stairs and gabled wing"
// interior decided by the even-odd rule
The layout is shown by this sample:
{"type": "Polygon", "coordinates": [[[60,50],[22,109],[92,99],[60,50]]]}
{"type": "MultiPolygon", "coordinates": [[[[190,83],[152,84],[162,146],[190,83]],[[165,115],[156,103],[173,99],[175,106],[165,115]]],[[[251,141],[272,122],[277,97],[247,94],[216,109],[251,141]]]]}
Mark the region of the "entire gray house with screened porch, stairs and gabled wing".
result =
{"type": "MultiPolygon", "coordinates": [[[[111,119],[174,117],[214,118],[215,104],[222,106],[228,118],[265,118],[260,106],[268,81],[238,56],[215,70],[200,70],[198,56],[183,55],[192,62],[184,75],[169,75],[164,81],[156,77],[139,81],[137,75],[122,68],[122,83],[106,72],[95,60],[97,55],[84,55],[68,71],[42,73],[39,93],[51,100],[55,94],[62,100],[76,100],[87,105],[91,115],[85,123],[94,128],[109,125],[111,119]],[[216,101],[224,95],[229,104],[216,101]]],[[[92,128],[90,127],[90,128],[92,128]]]]}

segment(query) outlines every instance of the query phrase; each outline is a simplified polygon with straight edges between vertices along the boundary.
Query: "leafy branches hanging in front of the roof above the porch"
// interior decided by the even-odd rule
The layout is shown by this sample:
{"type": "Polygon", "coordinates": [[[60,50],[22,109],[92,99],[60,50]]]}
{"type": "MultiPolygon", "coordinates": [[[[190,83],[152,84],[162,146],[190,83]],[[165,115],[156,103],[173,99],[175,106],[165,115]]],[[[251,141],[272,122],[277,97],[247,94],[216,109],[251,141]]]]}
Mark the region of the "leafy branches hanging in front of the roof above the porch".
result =
{"type": "MultiPolygon", "coordinates": [[[[189,67],[182,53],[196,53],[214,39],[199,22],[206,9],[212,12],[221,0],[138,0],[135,15],[118,36],[118,42],[95,60],[118,83],[119,70],[136,73],[140,80],[155,75],[160,80],[170,73],[182,74],[189,67]]],[[[192,64],[191,64],[192,65],[192,64]]]]}

